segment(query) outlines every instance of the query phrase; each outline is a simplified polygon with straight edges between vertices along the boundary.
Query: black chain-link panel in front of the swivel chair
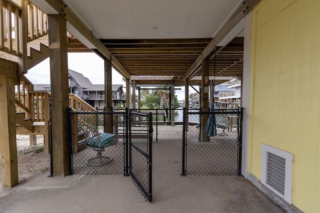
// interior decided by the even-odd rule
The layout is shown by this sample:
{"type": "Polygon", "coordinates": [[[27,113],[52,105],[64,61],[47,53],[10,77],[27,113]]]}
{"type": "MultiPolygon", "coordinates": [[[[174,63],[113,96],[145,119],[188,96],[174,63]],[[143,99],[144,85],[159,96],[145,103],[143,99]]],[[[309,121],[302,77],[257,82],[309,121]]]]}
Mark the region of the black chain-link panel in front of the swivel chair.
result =
{"type": "Polygon", "coordinates": [[[72,174],[117,174],[128,175],[127,111],[122,112],[73,112],[68,111],[70,173],[72,174]],[[82,126],[88,124],[101,133],[111,133],[114,143],[105,147],[102,157],[110,162],[101,162],[99,151],[86,144],[82,126]],[[97,163],[89,163],[97,158],[97,163]]]}

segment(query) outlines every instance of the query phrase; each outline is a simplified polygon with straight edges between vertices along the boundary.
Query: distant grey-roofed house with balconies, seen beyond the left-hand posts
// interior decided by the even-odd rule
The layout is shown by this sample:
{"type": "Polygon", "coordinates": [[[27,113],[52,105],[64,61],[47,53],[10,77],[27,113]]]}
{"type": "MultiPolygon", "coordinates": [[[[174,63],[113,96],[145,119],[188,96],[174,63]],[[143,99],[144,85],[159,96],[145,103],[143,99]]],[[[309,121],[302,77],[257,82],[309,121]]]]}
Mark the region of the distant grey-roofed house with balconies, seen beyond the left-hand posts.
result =
{"type": "MultiPolygon", "coordinates": [[[[104,84],[92,84],[81,73],[68,69],[69,93],[85,100],[94,108],[104,107],[104,84]]],[[[34,84],[34,91],[50,91],[50,84],[34,84]]],[[[112,84],[112,107],[124,106],[122,84],[112,84]]]]}

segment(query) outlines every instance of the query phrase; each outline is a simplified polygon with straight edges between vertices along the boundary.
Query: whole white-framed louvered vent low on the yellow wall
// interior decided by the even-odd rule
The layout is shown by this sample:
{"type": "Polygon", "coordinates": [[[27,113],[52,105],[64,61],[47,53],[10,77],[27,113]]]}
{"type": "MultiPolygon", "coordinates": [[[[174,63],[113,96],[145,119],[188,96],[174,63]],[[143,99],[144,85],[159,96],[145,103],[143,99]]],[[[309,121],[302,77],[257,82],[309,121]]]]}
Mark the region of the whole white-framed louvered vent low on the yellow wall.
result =
{"type": "Polygon", "coordinates": [[[291,153],[262,144],[261,182],[275,194],[291,204],[291,153]]]}

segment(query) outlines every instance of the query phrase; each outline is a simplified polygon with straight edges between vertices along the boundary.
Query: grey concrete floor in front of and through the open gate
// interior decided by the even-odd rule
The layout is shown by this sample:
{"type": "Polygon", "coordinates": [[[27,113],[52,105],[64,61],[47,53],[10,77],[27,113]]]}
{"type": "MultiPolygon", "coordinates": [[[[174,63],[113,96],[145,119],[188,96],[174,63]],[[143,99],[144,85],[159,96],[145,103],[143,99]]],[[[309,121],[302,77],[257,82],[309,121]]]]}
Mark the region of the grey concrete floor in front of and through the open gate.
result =
{"type": "Polygon", "coordinates": [[[129,177],[43,173],[0,199],[1,213],[281,213],[246,179],[181,177],[181,145],[153,142],[152,203],[129,177]]]}

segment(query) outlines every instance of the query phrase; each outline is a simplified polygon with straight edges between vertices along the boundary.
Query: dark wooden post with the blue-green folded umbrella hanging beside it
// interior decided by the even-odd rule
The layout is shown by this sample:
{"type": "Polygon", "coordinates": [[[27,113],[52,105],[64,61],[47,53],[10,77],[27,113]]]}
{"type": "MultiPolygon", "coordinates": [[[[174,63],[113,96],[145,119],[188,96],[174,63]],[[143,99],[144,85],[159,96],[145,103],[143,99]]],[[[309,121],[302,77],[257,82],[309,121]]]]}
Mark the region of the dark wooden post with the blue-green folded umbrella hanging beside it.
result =
{"type": "MultiPolygon", "coordinates": [[[[209,111],[208,93],[209,93],[209,58],[206,57],[202,61],[202,82],[201,82],[201,107],[202,112],[209,111]]],[[[206,134],[205,126],[208,120],[208,115],[202,115],[201,119],[201,139],[202,141],[209,141],[206,134]]]]}

